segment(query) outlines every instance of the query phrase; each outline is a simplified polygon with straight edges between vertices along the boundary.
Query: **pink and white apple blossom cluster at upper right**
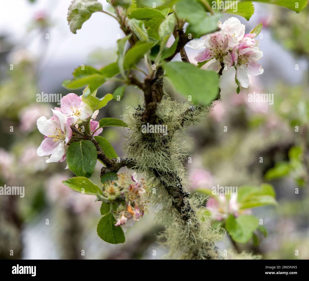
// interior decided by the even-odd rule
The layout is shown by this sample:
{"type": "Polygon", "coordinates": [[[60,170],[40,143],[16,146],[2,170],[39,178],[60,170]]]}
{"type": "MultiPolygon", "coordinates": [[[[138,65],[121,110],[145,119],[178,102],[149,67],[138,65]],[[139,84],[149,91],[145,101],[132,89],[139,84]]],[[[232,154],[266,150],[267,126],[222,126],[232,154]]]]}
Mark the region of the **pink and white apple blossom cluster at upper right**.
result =
{"type": "Polygon", "coordinates": [[[221,63],[226,65],[226,69],[234,65],[236,79],[243,88],[248,88],[248,74],[257,76],[263,73],[263,68],[256,62],[263,56],[258,48],[259,41],[255,40],[256,34],[245,34],[244,24],[234,17],[223,24],[219,22],[218,28],[218,32],[207,35],[203,40],[192,40],[187,46],[194,50],[205,48],[194,58],[197,62],[215,59],[208,70],[218,73],[222,68],[221,63]]]}

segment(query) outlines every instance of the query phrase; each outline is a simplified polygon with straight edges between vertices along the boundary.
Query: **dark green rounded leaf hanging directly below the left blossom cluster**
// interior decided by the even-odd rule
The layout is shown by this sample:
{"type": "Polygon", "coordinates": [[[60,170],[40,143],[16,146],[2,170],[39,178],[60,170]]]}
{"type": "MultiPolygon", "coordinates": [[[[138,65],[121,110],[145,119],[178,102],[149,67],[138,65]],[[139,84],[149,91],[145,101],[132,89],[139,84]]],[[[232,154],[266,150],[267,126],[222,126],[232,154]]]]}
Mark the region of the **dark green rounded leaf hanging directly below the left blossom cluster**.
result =
{"type": "Polygon", "coordinates": [[[97,160],[97,150],[90,140],[73,142],[66,152],[66,160],[77,176],[90,178],[97,160]]]}

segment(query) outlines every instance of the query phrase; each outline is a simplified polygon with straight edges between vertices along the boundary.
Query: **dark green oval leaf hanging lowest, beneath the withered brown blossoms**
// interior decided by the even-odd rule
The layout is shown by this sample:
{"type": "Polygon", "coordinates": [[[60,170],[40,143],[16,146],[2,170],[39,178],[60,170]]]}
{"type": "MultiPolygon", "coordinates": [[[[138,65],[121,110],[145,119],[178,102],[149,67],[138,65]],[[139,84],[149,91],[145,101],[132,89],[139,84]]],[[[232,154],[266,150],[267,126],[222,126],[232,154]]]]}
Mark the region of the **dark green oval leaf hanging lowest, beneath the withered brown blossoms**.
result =
{"type": "Polygon", "coordinates": [[[110,212],[103,216],[97,227],[98,235],[104,241],[111,244],[118,244],[125,242],[125,234],[120,226],[115,226],[116,219],[110,212]]]}

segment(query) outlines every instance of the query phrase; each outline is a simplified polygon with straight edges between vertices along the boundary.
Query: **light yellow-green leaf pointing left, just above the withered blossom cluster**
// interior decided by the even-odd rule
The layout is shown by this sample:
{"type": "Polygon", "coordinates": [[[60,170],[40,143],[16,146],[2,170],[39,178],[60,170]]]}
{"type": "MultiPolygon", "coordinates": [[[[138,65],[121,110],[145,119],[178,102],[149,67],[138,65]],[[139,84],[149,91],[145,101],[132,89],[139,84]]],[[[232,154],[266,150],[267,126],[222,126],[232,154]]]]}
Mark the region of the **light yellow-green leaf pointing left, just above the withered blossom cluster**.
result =
{"type": "Polygon", "coordinates": [[[62,182],[64,185],[82,194],[103,195],[101,188],[86,177],[73,177],[62,182]]]}

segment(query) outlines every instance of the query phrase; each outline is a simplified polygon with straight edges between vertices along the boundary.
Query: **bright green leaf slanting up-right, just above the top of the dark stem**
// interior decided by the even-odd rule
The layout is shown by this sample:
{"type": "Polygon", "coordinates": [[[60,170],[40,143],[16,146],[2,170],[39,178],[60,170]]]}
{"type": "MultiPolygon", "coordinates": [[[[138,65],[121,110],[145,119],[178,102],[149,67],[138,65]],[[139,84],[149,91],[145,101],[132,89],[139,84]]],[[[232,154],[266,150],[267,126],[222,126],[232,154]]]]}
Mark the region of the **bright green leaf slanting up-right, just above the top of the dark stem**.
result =
{"type": "Polygon", "coordinates": [[[138,42],[125,54],[125,69],[129,69],[137,64],[144,54],[149,51],[155,43],[153,42],[138,42]]]}

